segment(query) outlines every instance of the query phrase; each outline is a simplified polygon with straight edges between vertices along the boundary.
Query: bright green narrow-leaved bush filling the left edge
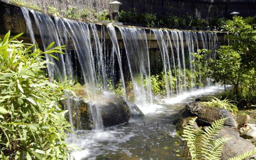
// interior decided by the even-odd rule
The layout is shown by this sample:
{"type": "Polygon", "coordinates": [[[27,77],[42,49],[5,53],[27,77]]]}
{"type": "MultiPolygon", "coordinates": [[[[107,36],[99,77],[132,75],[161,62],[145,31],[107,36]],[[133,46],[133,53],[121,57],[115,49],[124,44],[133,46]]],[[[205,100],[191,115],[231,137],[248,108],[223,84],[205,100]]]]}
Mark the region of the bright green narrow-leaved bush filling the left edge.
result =
{"type": "Polygon", "coordinates": [[[74,94],[72,83],[49,82],[43,72],[50,63],[44,54],[63,46],[32,52],[34,45],[16,40],[21,35],[0,40],[0,159],[67,159],[71,126],[58,102],[64,91],[74,94]]]}

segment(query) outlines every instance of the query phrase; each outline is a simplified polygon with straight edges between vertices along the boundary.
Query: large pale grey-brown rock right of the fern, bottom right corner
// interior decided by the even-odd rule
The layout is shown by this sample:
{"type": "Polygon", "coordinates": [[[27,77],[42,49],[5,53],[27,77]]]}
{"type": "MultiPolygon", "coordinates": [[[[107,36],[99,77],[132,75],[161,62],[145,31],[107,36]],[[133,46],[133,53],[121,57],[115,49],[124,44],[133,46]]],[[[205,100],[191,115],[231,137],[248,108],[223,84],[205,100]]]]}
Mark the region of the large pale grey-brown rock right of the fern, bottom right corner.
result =
{"type": "MultiPolygon", "coordinates": [[[[232,138],[224,144],[221,160],[228,160],[231,157],[239,156],[246,151],[254,150],[255,146],[248,140],[241,138],[233,128],[223,126],[217,138],[232,138]]],[[[250,158],[249,158],[250,159],[250,158]]]]}

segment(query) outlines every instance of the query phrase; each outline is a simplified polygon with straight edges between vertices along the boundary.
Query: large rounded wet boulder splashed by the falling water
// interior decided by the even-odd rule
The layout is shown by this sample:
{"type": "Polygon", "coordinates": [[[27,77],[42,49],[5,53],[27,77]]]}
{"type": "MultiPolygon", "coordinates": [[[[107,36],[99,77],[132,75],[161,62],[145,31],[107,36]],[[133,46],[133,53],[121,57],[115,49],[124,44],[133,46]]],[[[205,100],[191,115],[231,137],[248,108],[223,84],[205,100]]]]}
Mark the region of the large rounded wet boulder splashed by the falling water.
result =
{"type": "MultiPolygon", "coordinates": [[[[100,91],[96,91],[96,96],[90,92],[89,95],[90,98],[88,98],[86,88],[80,87],[80,90],[76,90],[76,97],[70,98],[70,108],[75,128],[79,130],[92,129],[93,118],[91,112],[92,110],[95,111],[96,107],[100,108],[102,122],[105,127],[129,121],[130,109],[124,99],[108,92],[100,91]]],[[[64,101],[63,105],[67,106],[67,104],[64,101]]]]}

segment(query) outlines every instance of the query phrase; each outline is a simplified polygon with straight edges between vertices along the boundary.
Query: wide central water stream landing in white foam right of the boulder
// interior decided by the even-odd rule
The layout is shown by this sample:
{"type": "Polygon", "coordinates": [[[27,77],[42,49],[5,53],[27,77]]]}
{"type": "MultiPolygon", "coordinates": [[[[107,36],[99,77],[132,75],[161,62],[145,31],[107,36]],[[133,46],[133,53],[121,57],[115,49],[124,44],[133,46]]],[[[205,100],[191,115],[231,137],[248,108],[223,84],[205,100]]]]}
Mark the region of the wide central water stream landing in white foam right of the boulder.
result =
{"type": "Polygon", "coordinates": [[[147,98],[150,102],[153,101],[146,32],[140,28],[118,28],[124,40],[135,101],[139,106],[146,106],[147,98]],[[144,79],[146,80],[146,90],[144,88],[144,79]]]}

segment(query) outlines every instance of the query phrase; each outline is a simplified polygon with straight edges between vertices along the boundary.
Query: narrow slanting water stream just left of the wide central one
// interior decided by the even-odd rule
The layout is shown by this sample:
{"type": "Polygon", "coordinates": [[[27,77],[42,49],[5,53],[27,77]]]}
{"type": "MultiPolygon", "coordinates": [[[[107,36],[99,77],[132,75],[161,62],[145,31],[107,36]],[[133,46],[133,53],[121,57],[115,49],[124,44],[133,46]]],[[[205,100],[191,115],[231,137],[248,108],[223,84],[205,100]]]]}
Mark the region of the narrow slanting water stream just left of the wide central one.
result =
{"type": "Polygon", "coordinates": [[[118,45],[118,40],[116,37],[116,31],[115,31],[114,26],[112,26],[112,25],[108,25],[107,29],[108,29],[108,34],[109,34],[110,39],[113,44],[113,51],[115,51],[116,57],[118,60],[120,76],[121,76],[121,81],[122,81],[122,87],[124,88],[123,96],[124,96],[124,99],[126,100],[126,90],[125,90],[125,82],[124,82],[124,73],[123,73],[123,69],[122,69],[122,59],[121,59],[121,53],[120,53],[120,49],[119,49],[119,45],[118,45]]]}

